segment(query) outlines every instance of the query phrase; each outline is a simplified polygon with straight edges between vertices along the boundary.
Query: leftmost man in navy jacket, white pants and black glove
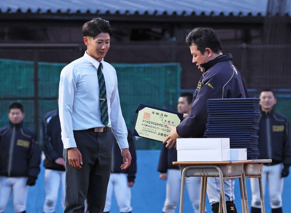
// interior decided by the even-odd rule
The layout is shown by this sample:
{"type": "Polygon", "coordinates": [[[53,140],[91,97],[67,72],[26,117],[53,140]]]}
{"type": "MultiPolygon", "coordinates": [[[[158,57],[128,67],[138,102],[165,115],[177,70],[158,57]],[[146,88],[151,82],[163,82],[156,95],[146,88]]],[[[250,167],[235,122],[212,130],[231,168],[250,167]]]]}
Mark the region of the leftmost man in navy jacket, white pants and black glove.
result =
{"type": "Polygon", "coordinates": [[[21,103],[9,106],[10,125],[0,129],[0,212],[13,192],[14,211],[26,213],[29,186],[40,172],[40,148],[33,131],[23,127],[21,103]]]}

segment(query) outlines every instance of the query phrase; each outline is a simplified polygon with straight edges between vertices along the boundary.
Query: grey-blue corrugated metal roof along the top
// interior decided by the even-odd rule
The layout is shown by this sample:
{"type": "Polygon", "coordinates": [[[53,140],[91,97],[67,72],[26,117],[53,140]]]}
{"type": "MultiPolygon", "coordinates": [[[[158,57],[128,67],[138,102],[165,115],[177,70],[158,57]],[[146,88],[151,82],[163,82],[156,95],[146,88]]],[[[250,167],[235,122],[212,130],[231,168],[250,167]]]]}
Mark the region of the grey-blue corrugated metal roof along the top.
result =
{"type": "MultiPolygon", "coordinates": [[[[26,13],[31,12],[52,13],[61,11],[62,13],[91,12],[93,14],[99,10],[100,14],[109,11],[111,14],[144,14],[161,15],[166,12],[168,15],[219,15],[223,13],[228,16],[247,16],[249,14],[257,16],[266,15],[268,0],[1,0],[1,12],[14,13],[20,10],[26,13]]],[[[290,13],[289,10],[286,13],[290,13]]]]}

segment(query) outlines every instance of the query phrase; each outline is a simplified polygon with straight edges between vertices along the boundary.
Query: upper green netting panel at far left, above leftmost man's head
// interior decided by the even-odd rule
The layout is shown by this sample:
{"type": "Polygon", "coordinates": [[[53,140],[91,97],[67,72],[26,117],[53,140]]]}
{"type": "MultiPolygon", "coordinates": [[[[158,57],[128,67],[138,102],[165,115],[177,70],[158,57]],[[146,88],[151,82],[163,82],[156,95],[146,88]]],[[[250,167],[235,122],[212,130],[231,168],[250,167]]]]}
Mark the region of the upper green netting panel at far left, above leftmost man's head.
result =
{"type": "Polygon", "coordinates": [[[0,59],[0,98],[33,97],[32,61],[0,59]]]}

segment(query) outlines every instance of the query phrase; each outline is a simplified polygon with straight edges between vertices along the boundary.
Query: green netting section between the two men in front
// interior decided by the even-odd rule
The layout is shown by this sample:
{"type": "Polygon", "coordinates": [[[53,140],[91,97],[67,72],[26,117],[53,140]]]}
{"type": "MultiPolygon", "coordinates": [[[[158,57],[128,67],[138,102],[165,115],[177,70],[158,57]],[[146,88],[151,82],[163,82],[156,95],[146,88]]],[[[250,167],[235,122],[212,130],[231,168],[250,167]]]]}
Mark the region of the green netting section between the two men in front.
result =
{"type": "MultiPolygon", "coordinates": [[[[133,130],[135,110],[139,103],[177,110],[180,94],[178,63],[118,64],[112,63],[118,78],[118,92],[122,114],[127,126],[133,130]]],[[[161,143],[139,138],[137,149],[159,149],[161,143]]]]}

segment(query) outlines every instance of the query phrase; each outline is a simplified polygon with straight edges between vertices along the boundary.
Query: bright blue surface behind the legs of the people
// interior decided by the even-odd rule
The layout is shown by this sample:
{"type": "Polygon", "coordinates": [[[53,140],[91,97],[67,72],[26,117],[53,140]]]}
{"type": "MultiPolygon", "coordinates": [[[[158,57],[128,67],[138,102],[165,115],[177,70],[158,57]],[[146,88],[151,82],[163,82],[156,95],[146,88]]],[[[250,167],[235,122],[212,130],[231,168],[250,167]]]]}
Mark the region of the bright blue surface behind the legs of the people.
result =
{"type": "MultiPolygon", "coordinates": [[[[138,141],[136,141],[138,143],[138,141]]],[[[157,165],[159,161],[159,150],[137,150],[137,177],[135,185],[132,187],[132,212],[133,213],[161,213],[166,196],[166,181],[159,179],[159,172],[157,172],[157,165]]],[[[37,180],[37,184],[29,188],[29,194],[27,198],[27,212],[28,213],[41,213],[42,205],[45,200],[44,192],[44,168],[42,167],[41,173],[37,180]]],[[[249,198],[249,206],[251,201],[251,188],[250,181],[246,179],[247,192],[249,198]]],[[[187,188],[187,187],[186,187],[187,188]]],[[[186,189],[187,190],[187,189],[186,189]]],[[[283,190],[283,211],[291,209],[291,203],[288,199],[288,194],[291,190],[291,176],[284,179],[284,190],[283,190]]],[[[239,192],[239,181],[235,180],[235,204],[238,212],[241,210],[241,200],[239,192]]],[[[206,201],[207,212],[211,212],[210,204],[206,201]]],[[[266,213],[271,213],[269,206],[268,192],[265,194],[265,206],[266,213]]],[[[13,213],[13,201],[10,198],[6,210],[4,213],[13,213]]],[[[62,213],[62,207],[60,200],[58,199],[56,213],[62,213]]],[[[113,199],[110,213],[118,213],[118,207],[116,201],[113,199]]],[[[179,212],[179,204],[175,213],[179,212]]],[[[191,203],[187,192],[185,193],[184,200],[184,212],[193,212],[191,203]]]]}

